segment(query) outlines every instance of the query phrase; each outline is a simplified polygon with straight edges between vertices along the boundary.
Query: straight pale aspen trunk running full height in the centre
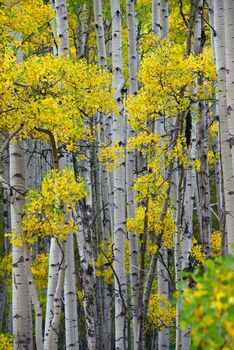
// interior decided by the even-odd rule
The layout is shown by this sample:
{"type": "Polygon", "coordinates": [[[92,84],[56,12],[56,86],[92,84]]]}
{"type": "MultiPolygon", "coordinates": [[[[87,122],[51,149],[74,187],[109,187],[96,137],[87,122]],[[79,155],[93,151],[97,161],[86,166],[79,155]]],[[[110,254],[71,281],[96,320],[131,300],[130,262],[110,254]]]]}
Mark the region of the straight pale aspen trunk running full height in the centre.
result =
{"type": "MultiPolygon", "coordinates": [[[[119,105],[119,115],[113,118],[113,144],[125,145],[124,137],[124,108],[122,89],[124,87],[123,63],[122,63],[122,14],[119,0],[111,0],[112,14],[112,70],[113,88],[115,100],[119,105]]],[[[126,348],[126,281],[124,261],[124,240],[126,235],[126,211],[125,211],[125,161],[122,161],[119,169],[114,170],[113,184],[113,213],[114,213],[114,286],[115,286],[115,349],[126,348]]]]}

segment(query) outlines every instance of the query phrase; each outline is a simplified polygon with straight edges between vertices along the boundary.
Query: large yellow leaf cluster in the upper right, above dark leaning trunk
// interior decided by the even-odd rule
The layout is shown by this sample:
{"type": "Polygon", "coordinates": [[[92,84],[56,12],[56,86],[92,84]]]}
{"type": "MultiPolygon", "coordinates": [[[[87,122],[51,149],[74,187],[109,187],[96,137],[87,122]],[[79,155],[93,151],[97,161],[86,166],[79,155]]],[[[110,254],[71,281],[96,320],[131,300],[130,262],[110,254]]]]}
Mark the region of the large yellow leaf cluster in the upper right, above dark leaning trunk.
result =
{"type": "Polygon", "coordinates": [[[139,94],[127,101],[130,124],[135,130],[145,129],[147,121],[162,114],[177,117],[196,101],[211,99],[215,91],[215,66],[210,50],[185,57],[184,47],[169,40],[158,41],[154,48],[140,66],[139,94]],[[195,89],[198,77],[204,78],[199,91],[195,89]]]}

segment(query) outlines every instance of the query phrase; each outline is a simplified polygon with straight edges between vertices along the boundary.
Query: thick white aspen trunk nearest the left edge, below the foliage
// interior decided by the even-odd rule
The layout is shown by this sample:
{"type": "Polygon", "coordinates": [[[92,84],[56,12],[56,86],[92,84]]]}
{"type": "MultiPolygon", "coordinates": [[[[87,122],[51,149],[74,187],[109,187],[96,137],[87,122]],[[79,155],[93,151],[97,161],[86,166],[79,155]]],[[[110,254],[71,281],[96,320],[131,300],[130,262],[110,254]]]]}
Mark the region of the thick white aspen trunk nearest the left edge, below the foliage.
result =
{"type": "MultiPolygon", "coordinates": [[[[25,191],[25,159],[23,144],[10,144],[10,185],[14,188],[11,203],[11,230],[14,236],[22,235],[22,205],[25,191]]],[[[31,350],[32,318],[31,301],[25,269],[23,247],[12,247],[12,316],[14,348],[31,350]]]]}

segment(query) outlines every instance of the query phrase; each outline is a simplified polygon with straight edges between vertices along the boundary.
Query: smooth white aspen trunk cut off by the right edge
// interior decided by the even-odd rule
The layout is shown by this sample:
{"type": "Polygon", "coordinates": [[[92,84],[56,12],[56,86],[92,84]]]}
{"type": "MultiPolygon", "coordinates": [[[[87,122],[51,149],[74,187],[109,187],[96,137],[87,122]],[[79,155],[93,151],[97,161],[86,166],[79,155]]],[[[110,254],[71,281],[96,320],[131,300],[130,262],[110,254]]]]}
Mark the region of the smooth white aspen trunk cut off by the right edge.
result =
{"type": "MultiPolygon", "coordinates": [[[[226,103],[227,103],[227,108],[226,108],[226,117],[227,117],[227,125],[226,122],[224,121],[224,116],[222,118],[222,115],[220,113],[220,127],[221,127],[221,147],[223,147],[223,152],[222,152],[222,157],[223,157],[223,172],[224,172],[224,189],[225,189],[225,194],[226,194],[226,221],[227,221],[227,244],[228,244],[228,252],[233,253],[233,248],[231,245],[234,242],[234,201],[233,201],[233,196],[234,196],[234,191],[233,191],[233,184],[234,184],[234,176],[233,176],[233,169],[234,169],[234,89],[233,89],[233,72],[234,72],[234,64],[233,64],[233,30],[234,30],[234,23],[233,23],[233,13],[234,13],[234,4],[232,1],[227,0],[225,2],[225,21],[224,19],[222,20],[221,16],[223,15],[223,8],[220,10],[221,4],[217,2],[218,7],[215,7],[215,12],[216,12],[216,22],[217,23],[217,31],[219,30],[219,34],[215,38],[215,41],[217,43],[217,50],[216,50],[216,55],[217,55],[217,70],[218,70],[218,84],[219,84],[219,89],[224,88],[223,84],[223,79],[226,81],[226,103]],[[219,14],[217,13],[219,11],[219,14]],[[223,28],[223,22],[224,22],[224,28],[223,28]],[[219,27],[220,26],[220,27],[219,27]],[[222,26],[222,27],[221,27],[222,26]],[[221,32],[222,30],[222,32],[221,32]],[[225,52],[223,51],[223,45],[220,41],[220,37],[223,39],[224,38],[224,32],[225,32],[225,52]],[[223,54],[225,53],[222,58],[226,57],[226,65],[224,62],[221,60],[221,55],[220,55],[220,49],[222,49],[223,54]],[[225,78],[225,73],[226,73],[226,78],[225,78]],[[222,83],[222,85],[221,85],[222,83]],[[227,130],[228,127],[228,130],[227,130]],[[226,145],[228,143],[228,145],[226,145]],[[229,146],[229,150],[228,150],[229,146]],[[227,153],[225,151],[228,151],[227,153]],[[225,154],[226,153],[226,154],[225,154]],[[232,158],[232,174],[230,174],[230,156],[229,154],[231,153],[231,158],[232,158]],[[228,170],[229,168],[229,170],[228,170]],[[227,170],[226,170],[227,169],[227,170]],[[225,172],[226,176],[225,176],[225,172]],[[231,175],[231,177],[230,177],[231,175]]],[[[216,2],[215,2],[216,6],[216,2]]],[[[225,91],[225,89],[224,89],[225,91]]],[[[221,91],[219,91],[219,97],[220,97],[221,91]]],[[[224,103],[224,96],[222,99],[220,99],[220,108],[223,108],[222,103],[224,103]],[[222,102],[223,101],[223,102],[222,102]]],[[[222,110],[221,110],[222,111],[222,110]]],[[[223,112],[223,111],[222,111],[223,112]]]]}

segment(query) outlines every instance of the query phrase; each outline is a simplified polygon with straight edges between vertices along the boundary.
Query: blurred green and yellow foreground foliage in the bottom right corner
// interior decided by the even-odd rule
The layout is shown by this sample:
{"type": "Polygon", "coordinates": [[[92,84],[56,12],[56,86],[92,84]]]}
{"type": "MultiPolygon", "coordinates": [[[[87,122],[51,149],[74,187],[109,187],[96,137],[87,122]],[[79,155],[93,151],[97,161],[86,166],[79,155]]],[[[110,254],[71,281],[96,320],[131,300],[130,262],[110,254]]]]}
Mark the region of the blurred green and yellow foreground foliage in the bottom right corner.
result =
{"type": "Polygon", "coordinates": [[[191,328],[192,349],[233,349],[233,272],[233,256],[226,255],[206,260],[204,274],[192,274],[195,286],[181,300],[181,326],[191,328]]]}

